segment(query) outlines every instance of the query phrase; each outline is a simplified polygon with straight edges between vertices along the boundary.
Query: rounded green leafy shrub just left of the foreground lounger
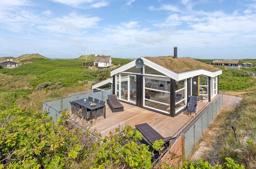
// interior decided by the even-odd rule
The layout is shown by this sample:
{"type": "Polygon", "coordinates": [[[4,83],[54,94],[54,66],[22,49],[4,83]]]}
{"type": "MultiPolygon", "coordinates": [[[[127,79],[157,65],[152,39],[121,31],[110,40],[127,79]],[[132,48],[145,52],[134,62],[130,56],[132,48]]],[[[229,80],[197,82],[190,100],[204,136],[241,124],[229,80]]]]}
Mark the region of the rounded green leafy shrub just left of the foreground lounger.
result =
{"type": "Polygon", "coordinates": [[[152,167],[148,146],[138,145],[137,139],[142,139],[142,135],[139,131],[133,131],[131,126],[125,126],[124,131],[116,129],[103,139],[103,144],[96,153],[95,164],[101,168],[152,167]]]}

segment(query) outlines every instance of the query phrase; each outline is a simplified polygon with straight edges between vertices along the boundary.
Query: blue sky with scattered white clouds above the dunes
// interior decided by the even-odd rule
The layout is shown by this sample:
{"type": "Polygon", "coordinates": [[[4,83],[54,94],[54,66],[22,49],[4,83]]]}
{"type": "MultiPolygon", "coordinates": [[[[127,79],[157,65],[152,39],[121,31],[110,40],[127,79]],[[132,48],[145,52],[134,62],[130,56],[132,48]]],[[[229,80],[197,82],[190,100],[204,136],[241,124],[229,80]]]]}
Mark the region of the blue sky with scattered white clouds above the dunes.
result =
{"type": "Polygon", "coordinates": [[[256,0],[0,0],[0,56],[256,58],[256,0]]]}

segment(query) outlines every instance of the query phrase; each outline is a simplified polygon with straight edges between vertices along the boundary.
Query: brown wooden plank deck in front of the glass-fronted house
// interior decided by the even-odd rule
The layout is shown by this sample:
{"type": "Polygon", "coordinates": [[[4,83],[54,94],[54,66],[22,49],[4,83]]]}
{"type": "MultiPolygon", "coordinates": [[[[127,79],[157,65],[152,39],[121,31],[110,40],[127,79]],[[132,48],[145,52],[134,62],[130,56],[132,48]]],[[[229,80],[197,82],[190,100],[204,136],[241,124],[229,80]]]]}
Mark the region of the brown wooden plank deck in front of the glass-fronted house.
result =
{"type": "MultiPolygon", "coordinates": [[[[196,117],[196,115],[189,116],[186,111],[178,116],[170,117],[131,104],[122,104],[124,105],[124,111],[116,113],[112,113],[106,104],[106,119],[103,117],[97,118],[93,128],[100,132],[103,137],[107,136],[110,131],[114,131],[115,128],[123,128],[126,124],[134,127],[136,124],[141,123],[148,123],[164,137],[176,136],[186,124],[196,117]]],[[[210,102],[199,101],[198,112],[202,111],[208,104],[210,102]]]]}

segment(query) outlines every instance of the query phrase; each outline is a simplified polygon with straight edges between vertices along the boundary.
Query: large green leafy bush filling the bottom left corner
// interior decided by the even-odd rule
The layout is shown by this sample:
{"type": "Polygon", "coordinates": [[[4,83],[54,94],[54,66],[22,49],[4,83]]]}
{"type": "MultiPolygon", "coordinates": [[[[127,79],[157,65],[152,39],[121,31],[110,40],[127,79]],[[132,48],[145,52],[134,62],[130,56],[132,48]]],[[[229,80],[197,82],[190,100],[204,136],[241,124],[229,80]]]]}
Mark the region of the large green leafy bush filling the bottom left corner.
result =
{"type": "Polygon", "coordinates": [[[88,132],[70,130],[67,114],[57,123],[47,114],[0,103],[0,164],[8,168],[57,168],[85,159],[88,132]],[[81,137],[84,142],[78,140],[81,137]]]}

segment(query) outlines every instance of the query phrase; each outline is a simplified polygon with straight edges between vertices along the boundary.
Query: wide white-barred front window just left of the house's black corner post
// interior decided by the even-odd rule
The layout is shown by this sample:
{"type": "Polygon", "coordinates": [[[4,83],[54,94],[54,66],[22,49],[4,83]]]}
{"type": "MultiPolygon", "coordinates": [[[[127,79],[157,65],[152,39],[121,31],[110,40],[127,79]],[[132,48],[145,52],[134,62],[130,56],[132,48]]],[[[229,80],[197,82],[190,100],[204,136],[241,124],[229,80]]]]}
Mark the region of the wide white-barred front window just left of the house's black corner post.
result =
{"type": "Polygon", "coordinates": [[[170,113],[170,81],[165,78],[144,78],[144,106],[170,113]]]}

